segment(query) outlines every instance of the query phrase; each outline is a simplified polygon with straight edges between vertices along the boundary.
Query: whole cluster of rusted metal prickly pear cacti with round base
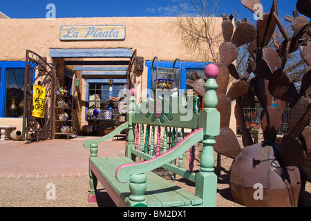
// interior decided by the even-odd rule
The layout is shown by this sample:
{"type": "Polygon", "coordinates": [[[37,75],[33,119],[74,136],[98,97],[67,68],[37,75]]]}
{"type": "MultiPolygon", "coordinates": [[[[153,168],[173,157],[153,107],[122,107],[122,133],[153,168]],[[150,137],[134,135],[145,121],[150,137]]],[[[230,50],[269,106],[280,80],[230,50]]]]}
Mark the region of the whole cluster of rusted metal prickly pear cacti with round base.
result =
{"type": "MultiPolygon", "coordinates": [[[[255,12],[259,0],[241,0],[243,6],[255,12]]],[[[310,17],[310,0],[298,1],[297,9],[310,17]]],[[[301,57],[308,66],[311,64],[310,30],[311,23],[305,17],[285,19],[292,23],[294,33],[288,37],[278,17],[277,1],[272,1],[270,13],[262,15],[256,26],[246,19],[238,23],[236,30],[232,16],[223,16],[224,42],[220,45],[220,62],[216,63],[218,75],[218,111],[220,112],[220,135],[216,137],[214,149],[218,154],[234,158],[230,169],[230,188],[235,202],[245,206],[299,206],[303,202],[305,173],[300,164],[305,154],[310,153],[311,119],[311,68],[301,81],[301,90],[296,88],[284,67],[290,53],[301,46],[301,57]],[[276,41],[274,30],[279,28],[284,40],[276,41]],[[274,41],[276,49],[267,45],[274,41]],[[237,57],[237,49],[249,44],[251,55],[248,68],[240,77],[232,62],[237,57]],[[254,73],[252,79],[250,74],[254,73]],[[227,91],[229,75],[236,79],[227,91]],[[253,144],[245,126],[243,107],[254,103],[256,96],[263,106],[261,124],[264,142],[253,144]],[[279,99],[278,107],[272,106],[272,97],[279,99]],[[229,128],[231,103],[236,100],[234,115],[241,126],[245,148],[241,151],[233,131],[229,128]],[[281,144],[276,144],[276,134],[280,127],[281,114],[290,107],[288,131],[281,144]],[[254,198],[256,184],[261,184],[263,199],[254,198]]],[[[194,85],[196,81],[194,82],[194,85]]]]}

